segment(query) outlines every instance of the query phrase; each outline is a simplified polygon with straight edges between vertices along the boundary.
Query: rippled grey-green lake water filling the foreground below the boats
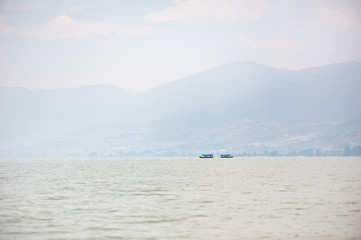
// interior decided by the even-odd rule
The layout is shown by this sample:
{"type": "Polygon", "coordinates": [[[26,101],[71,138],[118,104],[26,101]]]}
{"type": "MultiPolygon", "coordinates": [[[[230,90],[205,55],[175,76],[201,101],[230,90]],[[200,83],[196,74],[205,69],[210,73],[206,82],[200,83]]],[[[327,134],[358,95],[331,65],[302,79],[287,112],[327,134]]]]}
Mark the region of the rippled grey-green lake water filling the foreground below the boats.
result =
{"type": "Polygon", "coordinates": [[[361,239],[360,158],[2,159],[0,239],[361,239]]]}

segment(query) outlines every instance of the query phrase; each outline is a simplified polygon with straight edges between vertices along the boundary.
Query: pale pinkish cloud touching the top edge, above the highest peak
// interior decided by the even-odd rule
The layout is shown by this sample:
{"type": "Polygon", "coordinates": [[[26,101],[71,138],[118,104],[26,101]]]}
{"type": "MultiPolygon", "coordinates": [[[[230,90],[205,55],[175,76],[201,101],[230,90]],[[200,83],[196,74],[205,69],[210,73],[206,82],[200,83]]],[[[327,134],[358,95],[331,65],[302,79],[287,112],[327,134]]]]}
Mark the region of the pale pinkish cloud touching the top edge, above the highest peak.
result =
{"type": "Polygon", "coordinates": [[[255,21],[267,14],[265,1],[253,0],[186,0],[175,1],[172,6],[146,15],[150,22],[182,20],[242,20],[255,21]]]}

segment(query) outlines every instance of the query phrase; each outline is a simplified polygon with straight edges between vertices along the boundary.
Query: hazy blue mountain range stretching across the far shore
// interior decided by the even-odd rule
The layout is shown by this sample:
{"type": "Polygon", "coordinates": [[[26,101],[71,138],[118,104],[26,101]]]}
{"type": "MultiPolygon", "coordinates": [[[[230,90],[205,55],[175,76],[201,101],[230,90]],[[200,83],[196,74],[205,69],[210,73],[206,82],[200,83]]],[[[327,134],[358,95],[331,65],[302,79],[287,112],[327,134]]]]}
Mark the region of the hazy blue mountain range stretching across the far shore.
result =
{"type": "Polygon", "coordinates": [[[361,64],[226,64],[142,94],[0,88],[0,154],[192,155],[361,145],[361,64]]]}

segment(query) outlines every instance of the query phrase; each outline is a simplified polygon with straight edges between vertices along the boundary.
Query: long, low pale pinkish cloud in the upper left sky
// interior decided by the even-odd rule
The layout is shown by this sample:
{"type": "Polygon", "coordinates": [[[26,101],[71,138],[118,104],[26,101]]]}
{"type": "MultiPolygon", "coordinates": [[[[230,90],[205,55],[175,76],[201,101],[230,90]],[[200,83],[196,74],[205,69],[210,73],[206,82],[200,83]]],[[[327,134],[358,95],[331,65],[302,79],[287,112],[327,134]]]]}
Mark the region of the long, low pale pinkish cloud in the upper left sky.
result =
{"type": "Polygon", "coordinates": [[[42,39],[87,39],[99,36],[146,36],[151,30],[149,26],[80,21],[67,15],[60,15],[48,23],[18,29],[17,34],[22,37],[42,39]]]}

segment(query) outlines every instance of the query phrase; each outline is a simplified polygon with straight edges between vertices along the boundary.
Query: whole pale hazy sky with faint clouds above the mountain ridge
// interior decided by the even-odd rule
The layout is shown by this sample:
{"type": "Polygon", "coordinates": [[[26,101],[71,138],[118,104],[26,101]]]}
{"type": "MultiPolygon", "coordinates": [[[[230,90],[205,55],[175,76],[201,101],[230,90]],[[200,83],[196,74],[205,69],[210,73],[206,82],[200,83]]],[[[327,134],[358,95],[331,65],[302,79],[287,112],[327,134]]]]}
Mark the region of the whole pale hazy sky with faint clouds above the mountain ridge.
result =
{"type": "Polygon", "coordinates": [[[360,0],[0,0],[0,85],[135,92],[235,61],[361,61],[360,0]]]}

